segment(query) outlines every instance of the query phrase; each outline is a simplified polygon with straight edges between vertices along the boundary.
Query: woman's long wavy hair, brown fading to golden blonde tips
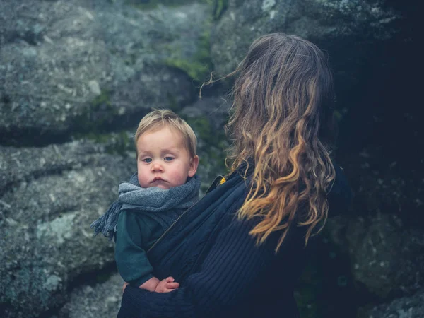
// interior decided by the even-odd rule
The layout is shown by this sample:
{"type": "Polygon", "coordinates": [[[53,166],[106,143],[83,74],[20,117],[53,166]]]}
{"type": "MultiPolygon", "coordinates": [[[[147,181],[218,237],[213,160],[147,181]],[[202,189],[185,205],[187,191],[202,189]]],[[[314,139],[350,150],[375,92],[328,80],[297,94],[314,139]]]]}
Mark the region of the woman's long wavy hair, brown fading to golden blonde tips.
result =
{"type": "Polygon", "coordinates": [[[276,252],[292,226],[307,227],[307,245],[324,226],[335,177],[334,89],[326,56],[300,37],[272,33],[252,43],[234,73],[227,159],[232,171],[254,160],[237,216],[259,217],[250,231],[257,244],[281,231],[276,252]]]}

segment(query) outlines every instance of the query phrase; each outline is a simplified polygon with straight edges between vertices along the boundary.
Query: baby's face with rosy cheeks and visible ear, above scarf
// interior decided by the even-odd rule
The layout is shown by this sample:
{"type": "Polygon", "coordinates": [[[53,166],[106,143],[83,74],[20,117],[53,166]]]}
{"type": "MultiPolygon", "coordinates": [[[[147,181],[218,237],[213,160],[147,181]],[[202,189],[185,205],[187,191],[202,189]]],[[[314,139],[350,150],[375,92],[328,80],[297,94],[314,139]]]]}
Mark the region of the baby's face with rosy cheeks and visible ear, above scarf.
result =
{"type": "Polygon", "coordinates": [[[182,134],[164,126],[146,131],[137,140],[137,171],[143,188],[169,189],[196,174],[199,158],[192,158],[182,134]]]}

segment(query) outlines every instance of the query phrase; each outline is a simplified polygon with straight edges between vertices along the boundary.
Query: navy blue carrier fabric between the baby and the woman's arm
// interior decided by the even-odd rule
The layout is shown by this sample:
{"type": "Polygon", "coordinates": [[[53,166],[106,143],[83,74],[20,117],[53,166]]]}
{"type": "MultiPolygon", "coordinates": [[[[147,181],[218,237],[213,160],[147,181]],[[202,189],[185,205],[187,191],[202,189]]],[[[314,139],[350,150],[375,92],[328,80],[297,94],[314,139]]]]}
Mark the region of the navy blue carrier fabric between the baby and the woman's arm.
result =
{"type": "Polygon", "coordinates": [[[208,192],[184,211],[148,249],[147,256],[155,277],[172,276],[183,284],[187,275],[199,268],[213,245],[216,225],[228,215],[230,206],[246,195],[247,180],[239,173],[233,172],[218,186],[220,178],[217,178],[208,192]]]}

